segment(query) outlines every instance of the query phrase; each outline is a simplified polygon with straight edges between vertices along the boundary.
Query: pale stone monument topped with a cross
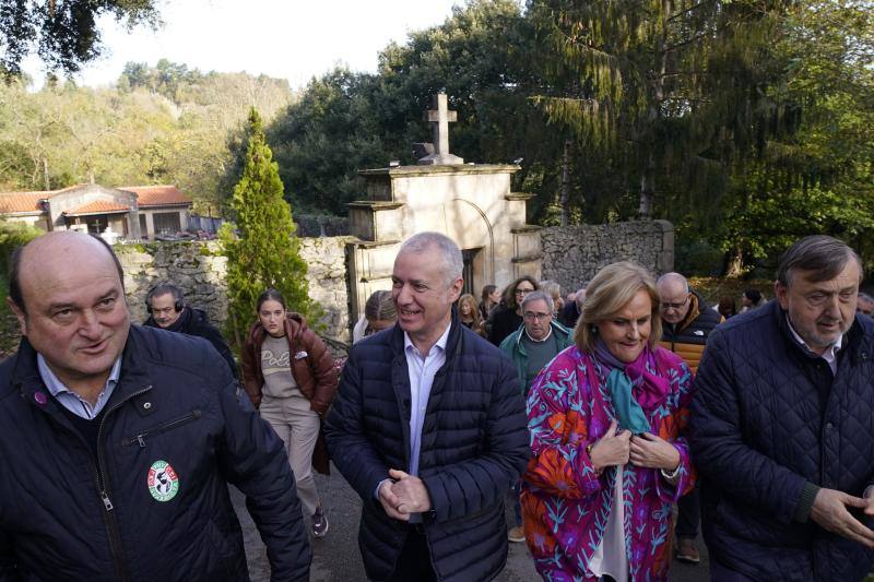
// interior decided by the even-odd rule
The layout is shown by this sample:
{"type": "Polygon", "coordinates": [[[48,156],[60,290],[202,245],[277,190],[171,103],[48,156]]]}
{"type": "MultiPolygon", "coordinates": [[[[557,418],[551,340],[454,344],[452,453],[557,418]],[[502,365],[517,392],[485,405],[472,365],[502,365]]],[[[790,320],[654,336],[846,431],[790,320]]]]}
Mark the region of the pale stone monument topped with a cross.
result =
{"type": "Polygon", "coordinates": [[[427,112],[434,153],[415,166],[359,170],[367,199],[349,204],[346,246],[351,322],[370,294],[391,288],[400,244],[425,230],[454,240],[464,256],[464,289],[479,297],[484,285],[504,287],[513,278],[541,276],[540,227],[525,223],[532,194],[512,192],[513,164],[464,164],[449,152],[449,122],[456,121],[446,94],[427,112]]]}

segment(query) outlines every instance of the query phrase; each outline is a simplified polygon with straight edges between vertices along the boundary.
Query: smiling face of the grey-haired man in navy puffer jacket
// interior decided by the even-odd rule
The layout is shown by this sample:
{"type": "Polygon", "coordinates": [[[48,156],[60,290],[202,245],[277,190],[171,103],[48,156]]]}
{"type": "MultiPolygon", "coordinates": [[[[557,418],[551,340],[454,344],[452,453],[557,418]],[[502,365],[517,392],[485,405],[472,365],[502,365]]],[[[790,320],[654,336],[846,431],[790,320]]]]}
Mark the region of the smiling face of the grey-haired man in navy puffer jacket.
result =
{"type": "Polygon", "coordinates": [[[422,252],[401,252],[394,260],[391,296],[398,322],[420,349],[430,349],[449,326],[452,304],[461,294],[461,278],[447,282],[444,269],[435,246],[422,252]]]}

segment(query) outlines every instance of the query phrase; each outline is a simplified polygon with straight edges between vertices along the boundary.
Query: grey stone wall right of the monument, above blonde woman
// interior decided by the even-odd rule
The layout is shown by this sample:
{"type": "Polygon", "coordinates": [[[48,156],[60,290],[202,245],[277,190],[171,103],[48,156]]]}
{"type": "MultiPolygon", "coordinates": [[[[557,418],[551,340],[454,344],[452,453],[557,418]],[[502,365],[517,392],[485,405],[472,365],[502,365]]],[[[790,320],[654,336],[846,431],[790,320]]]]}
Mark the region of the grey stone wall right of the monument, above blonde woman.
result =
{"type": "Polygon", "coordinates": [[[674,226],[666,221],[543,228],[541,246],[543,278],[557,281],[563,293],[616,261],[635,261],[656,275],[674,269],[674,226]]]}

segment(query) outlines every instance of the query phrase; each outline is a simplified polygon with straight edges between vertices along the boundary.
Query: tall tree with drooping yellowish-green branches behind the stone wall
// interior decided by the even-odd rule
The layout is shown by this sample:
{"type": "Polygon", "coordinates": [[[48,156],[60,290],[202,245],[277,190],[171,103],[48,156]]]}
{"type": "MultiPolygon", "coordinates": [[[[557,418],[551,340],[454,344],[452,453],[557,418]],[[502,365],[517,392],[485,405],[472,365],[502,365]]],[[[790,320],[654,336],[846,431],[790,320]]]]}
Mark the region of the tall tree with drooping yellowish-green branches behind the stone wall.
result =
{"type": "MultiPolygon", "coordinates": [[[[697,177],[713,165],[724,174],[725,158],[746,155],[751,139],[771,129],[748,115],[760,100],[760,79],[749,73],[789,3],[531,0],[544,51],[535,102],[581,150],[625,157],[618,168],[637,185],[637,214],[652,216],[659,177],[697,177]]],[[[706,186],[698,202],[712,203],[724,183],[684,190],[706,186]]]]}

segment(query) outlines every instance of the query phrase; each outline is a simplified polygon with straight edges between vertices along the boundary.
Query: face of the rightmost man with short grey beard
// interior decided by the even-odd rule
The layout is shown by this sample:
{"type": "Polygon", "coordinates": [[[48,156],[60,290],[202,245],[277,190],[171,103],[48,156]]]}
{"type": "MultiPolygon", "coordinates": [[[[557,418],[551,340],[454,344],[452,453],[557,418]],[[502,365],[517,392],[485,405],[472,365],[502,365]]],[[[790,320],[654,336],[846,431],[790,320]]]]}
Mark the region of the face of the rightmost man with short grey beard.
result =
{"type": "Polygon", "coordinates": [[[775,284],[777,300],[789,313],[792,328],[817,354],[823,354],[843,335],[855,317],[859,264],[847,261],[837,277],[811,281],[810,272],[796,271],[789,286],[775,284]]]}

